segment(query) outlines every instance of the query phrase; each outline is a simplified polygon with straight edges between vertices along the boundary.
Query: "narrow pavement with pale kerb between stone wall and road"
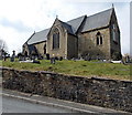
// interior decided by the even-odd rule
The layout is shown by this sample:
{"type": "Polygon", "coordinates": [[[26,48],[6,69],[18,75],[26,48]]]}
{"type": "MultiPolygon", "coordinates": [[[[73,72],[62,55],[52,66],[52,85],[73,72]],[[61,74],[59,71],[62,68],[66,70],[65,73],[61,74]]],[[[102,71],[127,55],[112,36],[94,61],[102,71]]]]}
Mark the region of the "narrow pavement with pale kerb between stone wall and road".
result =
{"type": "Polygon", "coordinates": [[[12,97],[12,98],[24,100],[35,104],[70,109],[75,113],[90,113],[94,115],[132,115],[132,113],[127,113],[123,111],[116,111],[116,109],[110,109],[110,108],[105,108],[99,106],[74,103],[74,102],[52,98],[47,96],[31,95],[28,93],[22,93],[22,92],[11,91],[11,90],[2,90],[1,95],[7,97],[12,97]]]}

